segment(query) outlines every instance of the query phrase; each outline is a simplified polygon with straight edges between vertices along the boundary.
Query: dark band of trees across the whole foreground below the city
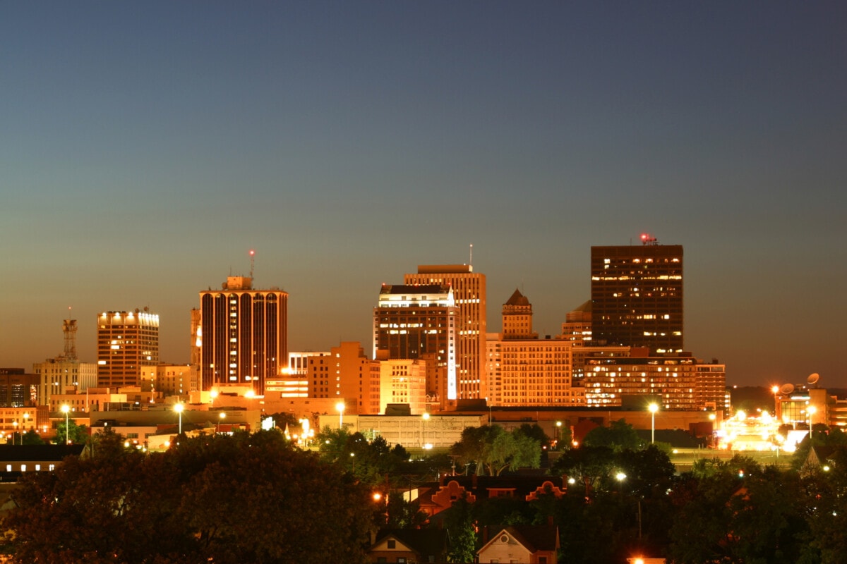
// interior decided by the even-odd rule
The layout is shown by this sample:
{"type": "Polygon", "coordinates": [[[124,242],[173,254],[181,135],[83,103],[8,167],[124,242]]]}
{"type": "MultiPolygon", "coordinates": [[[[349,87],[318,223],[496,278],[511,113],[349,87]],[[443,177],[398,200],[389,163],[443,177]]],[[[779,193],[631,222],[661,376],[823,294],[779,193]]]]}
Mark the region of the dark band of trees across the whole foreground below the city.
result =
{"type": "Polygon", "coordinates": [[[678,564],[834,564],[847,554],[847,435],[839,430],[816,425],[791,469],[734,457],[701,460],[681,475],[623,421],[595,431],[547,468],[566,477],[564,495],[459,500],[429,521],[395,490],[435,482],[440,472],[537,466],[529,446],[540,452],[549,441],[529,426],[476,428],[451,456],[410,461],[402,446],[338,430],[318,435],[318,452],[276,430],[182,436],[150,454],[126,448],[119,435],[96,435],[85,456],[25,476],[3,551],[48,564],[355,563],[366,561],[378,528],[440,526],[450,533],[451,561],[470,562],[485,526],[552,522],[562,562],[647,555],[678,564]],[[804,465],[813,443],[828,457],[804,465]]]}

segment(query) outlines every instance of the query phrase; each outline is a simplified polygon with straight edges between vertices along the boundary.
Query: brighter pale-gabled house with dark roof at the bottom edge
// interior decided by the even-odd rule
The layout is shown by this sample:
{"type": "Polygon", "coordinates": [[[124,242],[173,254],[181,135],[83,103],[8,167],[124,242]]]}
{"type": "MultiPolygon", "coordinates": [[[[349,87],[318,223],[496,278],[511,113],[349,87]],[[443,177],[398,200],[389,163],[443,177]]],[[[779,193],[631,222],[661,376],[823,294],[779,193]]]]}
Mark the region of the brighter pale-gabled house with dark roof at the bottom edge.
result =
{"type": "Polygon", "coordinates": [[[559,528],[555,525],[512,525],[484,528],[482,548],[477,550],[480,564],[510,562],[516,564],[556,564],[559,528]],[[489,531],[497,531],[488,537],[489,531]]]}

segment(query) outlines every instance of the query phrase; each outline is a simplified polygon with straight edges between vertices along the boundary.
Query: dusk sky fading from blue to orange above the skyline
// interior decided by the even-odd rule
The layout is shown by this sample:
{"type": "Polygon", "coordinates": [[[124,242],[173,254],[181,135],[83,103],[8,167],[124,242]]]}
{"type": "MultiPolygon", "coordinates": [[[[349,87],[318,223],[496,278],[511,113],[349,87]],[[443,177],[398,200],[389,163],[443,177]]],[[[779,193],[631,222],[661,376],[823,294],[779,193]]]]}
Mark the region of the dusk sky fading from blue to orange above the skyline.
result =
{"type": "Polygon", "coordinates": [[[289,295],[363,342],[424,264],[560,331],[590,247],[684,246],[685,348],[728,384],[847,386],[847,3],[0,4],[0,366],[96,361],[149,307],[289,295]],[[255,249],[251,266],[249,250],[255,249]],[[70,308],[70,309],[69,309],[70,308]]]}

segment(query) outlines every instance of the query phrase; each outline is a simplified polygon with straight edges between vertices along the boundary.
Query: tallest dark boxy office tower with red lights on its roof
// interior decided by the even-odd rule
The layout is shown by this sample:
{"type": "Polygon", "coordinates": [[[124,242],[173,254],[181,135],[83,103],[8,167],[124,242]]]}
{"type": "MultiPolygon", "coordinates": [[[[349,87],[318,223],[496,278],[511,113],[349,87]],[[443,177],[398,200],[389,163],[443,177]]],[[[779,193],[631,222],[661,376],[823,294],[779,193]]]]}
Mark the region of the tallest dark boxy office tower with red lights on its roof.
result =
{"type": "Polygon", "coordinates": [[[591,247],[591,342],[683,350],[683,247],[591,247]]]}

